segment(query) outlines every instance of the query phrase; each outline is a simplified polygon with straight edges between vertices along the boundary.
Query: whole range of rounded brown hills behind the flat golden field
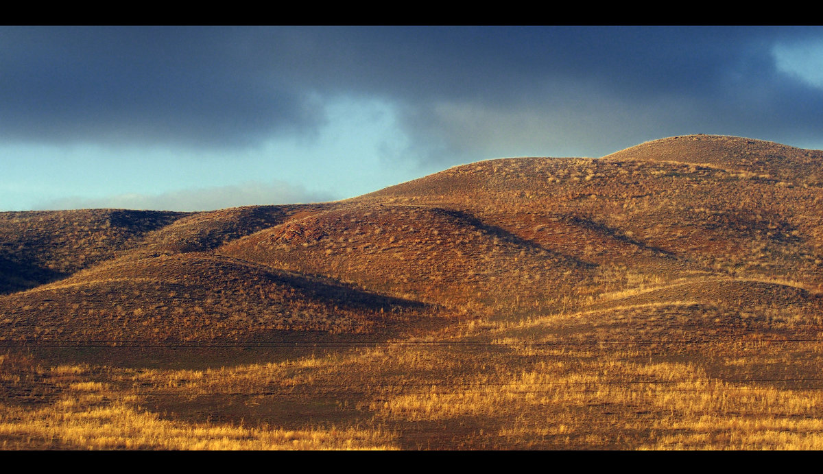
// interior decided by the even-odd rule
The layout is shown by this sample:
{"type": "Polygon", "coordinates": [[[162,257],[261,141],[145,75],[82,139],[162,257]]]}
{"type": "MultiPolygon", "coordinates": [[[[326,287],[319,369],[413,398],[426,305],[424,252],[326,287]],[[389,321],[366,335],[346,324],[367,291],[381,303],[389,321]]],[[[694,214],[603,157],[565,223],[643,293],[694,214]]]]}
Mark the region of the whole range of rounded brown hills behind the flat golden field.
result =
{"type": "MultiPolygon", "coordinates": [[[[482,161],[342,202],[6,212],[0,337],[223,340],[570,309],[606,318],[625,303],[615,295],[672,303],[675,293],[646,292],[705,281],[806,291],[766,292],[745,312],[778,321],[769,312],[787,304],[808,316],[823,287],[821,153],[672,137],[601,159],[482,161]]],[[[719,321],[748,299],[733,288],[710,295],[719,321]]],[[[678,311],[706,314],[700,304],[678,311]]]]}

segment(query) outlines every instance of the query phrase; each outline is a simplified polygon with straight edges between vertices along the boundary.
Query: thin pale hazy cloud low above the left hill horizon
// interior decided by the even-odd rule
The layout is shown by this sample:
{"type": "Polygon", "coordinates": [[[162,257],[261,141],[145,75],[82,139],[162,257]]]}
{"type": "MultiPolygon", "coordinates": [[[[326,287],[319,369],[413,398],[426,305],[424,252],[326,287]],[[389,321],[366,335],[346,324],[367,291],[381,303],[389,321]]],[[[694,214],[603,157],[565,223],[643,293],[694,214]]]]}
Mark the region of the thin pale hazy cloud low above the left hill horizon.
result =
{"type": "Polygon", "coordinates": [[[328,193],[313,193],[302,186],[282,182],[250,182],[233,186],[184,189],[156,195],[127,193],[111,197],[67,197],[42,202],[35,209],[151,209],[163,211],[211,211],[226,207],[261,204],[326,202],[328,193]]]}

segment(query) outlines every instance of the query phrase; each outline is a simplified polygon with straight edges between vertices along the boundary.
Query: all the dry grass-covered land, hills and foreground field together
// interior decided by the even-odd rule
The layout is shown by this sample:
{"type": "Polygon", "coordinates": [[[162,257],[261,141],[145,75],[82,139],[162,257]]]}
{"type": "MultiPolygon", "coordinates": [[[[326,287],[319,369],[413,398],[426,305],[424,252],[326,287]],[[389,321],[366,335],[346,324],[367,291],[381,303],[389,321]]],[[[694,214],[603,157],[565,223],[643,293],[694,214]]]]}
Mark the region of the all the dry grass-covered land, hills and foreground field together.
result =
{"type": "Polygon", "coordinates": [[[696,135],[342,202],[2,213],[0,442],[823,448],[821,166],[696,135]]]}

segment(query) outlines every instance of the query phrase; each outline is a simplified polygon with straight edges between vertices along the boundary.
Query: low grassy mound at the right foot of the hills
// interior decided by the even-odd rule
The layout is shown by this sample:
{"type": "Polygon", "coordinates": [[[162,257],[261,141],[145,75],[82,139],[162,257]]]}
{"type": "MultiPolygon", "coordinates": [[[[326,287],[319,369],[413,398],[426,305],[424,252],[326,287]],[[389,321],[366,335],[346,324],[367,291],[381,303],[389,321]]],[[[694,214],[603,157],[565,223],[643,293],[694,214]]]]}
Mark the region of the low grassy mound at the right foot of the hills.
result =
{"type": "Polygon", "coordinates": [[[601,332],[601,337],[615,337],[625,331],[618,327],[630,327],[633,319],[636,334],[645,339],[689,341],[752,334],[816,338],[823,323],[823,292],[793,281],[704,277],[603,294],[583,319],[614,329],[611,335],[601,332]]]}

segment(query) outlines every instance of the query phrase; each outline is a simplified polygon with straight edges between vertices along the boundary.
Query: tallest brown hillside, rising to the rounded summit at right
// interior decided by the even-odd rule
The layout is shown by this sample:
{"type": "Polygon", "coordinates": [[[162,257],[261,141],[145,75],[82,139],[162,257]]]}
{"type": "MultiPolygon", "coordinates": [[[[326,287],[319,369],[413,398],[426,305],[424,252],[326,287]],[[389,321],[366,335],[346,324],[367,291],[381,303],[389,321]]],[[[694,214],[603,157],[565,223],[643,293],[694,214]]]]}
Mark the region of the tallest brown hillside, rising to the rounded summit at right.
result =
{"type": "Polygon", "coordinates": [[[598,264],[823,283],[823,188],[809,178],[823,169],[821,152],[694,138],[663,139],[597,160],[483,161],[358,199],[470,211],[598,264]],[[704,140],[712,146],[692,146],[704,140]],[[788,155],[773,159],[781,151],[788,155]],[[728,156],[760,158],[732,163],[728,156]],[[780,175],[793,181],[766,176],[766,165],[786,165],[780,175]]]}

